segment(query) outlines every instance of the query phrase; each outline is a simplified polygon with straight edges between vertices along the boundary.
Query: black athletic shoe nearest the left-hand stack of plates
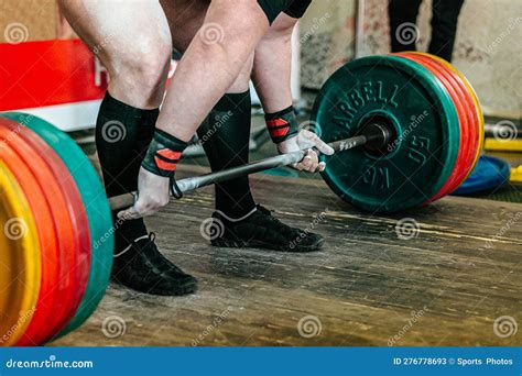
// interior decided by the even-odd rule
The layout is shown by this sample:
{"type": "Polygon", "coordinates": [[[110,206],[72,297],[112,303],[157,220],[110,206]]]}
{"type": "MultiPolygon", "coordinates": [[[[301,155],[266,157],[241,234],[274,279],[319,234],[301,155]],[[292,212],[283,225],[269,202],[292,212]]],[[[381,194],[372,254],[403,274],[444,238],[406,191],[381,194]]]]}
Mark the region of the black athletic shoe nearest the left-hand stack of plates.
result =
{"type": "Polygon", "coordinates": [[[197,279],[184,273],[157,250],[154,233],[139,237],[115,254],[112,279],[140,292],[182,296],[197,290],[197,279]]]}

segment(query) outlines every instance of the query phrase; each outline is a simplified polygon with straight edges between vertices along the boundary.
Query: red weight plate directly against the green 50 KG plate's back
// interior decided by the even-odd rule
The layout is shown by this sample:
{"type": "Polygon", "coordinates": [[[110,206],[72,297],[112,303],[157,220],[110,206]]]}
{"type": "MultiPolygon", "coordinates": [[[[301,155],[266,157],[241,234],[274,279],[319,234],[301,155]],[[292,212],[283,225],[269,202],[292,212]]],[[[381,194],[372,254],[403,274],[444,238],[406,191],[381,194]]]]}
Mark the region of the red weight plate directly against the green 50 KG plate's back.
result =
{"type": "Polygon", "coordinates": [[[458,113],[459,128],[460,128],[460,147],[459,147],[459,153],[457,156],[457,162],[446,184],[441,188],[441,190],[434,197],[432,197],[427,201],[427,202],[433,202],[448,195],[452,191],[452,189],[455,189],[454,187],[456,186],[456,181],[459,180],[460,175],[463,174],[463,170],[467,170],[466,165],[468,163],[468,157],[470,155],[470,151],[469,151],[470,145],[469,145],[468,125],[467,125],[468,117],[466,113],[466,108],[460,100],[459,92],[453,86],[453,82],[446,76],[446,73],[444,70],[442,70],[438,66],[436,66],[431,59],[427,59],[427,58],[423,59],[422,56],[418,56],[418,55],[407,54],[407,53],[401,53],[396,55],[409,58],[422,65],[429,71],[432,71],[432,74],[434,74],[435,77],[438,78],[438,80],[444,85],[444,87],[448,91],[458,113]]]}

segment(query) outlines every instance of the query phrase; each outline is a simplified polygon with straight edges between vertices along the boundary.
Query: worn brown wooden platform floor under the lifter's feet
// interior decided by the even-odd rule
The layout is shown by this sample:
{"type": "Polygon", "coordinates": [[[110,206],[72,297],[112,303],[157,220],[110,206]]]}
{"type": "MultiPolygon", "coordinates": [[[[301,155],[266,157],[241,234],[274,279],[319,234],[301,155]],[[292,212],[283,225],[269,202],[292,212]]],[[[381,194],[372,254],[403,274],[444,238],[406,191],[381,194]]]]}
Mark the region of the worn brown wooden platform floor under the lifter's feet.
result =
{"type": "Polygon", "coordinates": [[[199,291],[165,298],[111,285],[88,322],[53,345],[522,345],[522,328],[505,339],[493,331],[503,316],[522,325],[522,204],[446,198],[369,215],[322,180],[253,183],[258,201],[285,222],[305,229],[318,218],[324,251],[209,246],[199,226],[213,190],[204,189],[149,220],[199,291]],[[420,223],[412,240],[395,233],[405,217],[420,223]]]}

